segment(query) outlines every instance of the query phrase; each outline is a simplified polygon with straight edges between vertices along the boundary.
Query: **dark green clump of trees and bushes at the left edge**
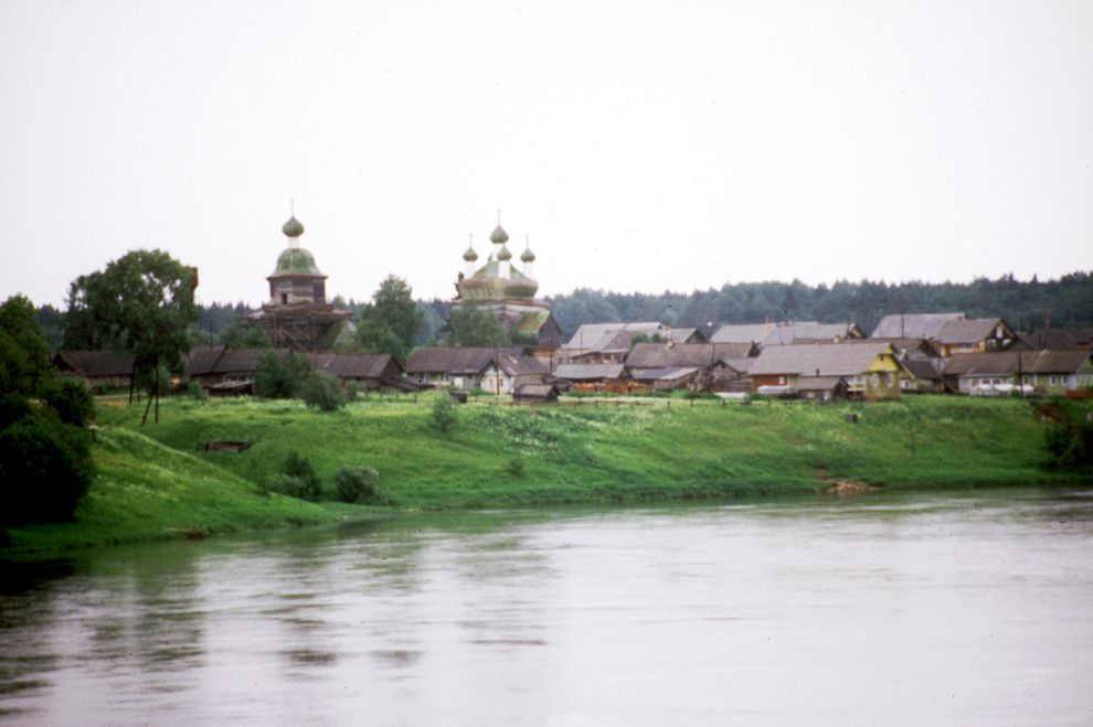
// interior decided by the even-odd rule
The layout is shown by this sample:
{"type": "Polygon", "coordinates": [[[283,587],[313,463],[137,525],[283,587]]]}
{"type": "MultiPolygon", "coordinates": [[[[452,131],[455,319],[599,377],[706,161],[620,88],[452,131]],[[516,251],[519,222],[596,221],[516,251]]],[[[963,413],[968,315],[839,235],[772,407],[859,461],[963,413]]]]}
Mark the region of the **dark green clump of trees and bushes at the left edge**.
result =
{"type": "Polygon", "coordinates": [[[0,304],[0,526],[71,520],[94,477],[94,399],[54,378],[49,343],[23,296],[0,304]]]}

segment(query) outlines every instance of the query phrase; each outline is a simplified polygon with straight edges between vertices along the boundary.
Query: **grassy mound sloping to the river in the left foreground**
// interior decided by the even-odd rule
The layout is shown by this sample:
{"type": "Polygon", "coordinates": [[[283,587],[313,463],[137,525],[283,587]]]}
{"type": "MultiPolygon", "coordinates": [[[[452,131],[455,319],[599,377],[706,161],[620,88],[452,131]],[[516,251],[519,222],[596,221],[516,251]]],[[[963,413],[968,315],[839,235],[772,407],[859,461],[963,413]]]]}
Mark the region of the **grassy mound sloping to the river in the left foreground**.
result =
{"type": "Polygon", "coordinates": [[[201,537],[337,518],[320,505],[264,495],[214,463],[129,429],[98,427],[98,470],[70,523],[9,528],[7,553],[201,537]]]}

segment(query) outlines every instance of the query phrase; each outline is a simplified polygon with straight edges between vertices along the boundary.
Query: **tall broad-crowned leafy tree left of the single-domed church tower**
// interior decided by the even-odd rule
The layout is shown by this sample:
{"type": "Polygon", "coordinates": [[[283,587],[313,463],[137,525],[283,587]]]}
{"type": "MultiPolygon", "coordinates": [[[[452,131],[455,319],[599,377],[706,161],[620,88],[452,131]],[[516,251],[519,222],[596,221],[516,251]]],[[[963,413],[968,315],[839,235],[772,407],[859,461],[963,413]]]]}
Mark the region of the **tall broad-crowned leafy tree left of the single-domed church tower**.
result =
{"type": "Polygon", "coordinates": [[[66,349],[109,349],[132,356],[139,381],[183,371],[190,329],[198,322],[194,274],[162,250],[134,250],[68,289],[66,349]]]}

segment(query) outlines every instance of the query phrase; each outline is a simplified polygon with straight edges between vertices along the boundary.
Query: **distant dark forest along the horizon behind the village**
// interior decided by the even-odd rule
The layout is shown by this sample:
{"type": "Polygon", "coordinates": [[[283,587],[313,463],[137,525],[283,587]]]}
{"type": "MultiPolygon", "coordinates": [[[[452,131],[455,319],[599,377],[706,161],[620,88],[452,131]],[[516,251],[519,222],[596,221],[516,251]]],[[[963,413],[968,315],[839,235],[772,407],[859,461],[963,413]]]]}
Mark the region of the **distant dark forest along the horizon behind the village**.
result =
{"type": "MultiPolygon", "coordinates": [[[[901,282],[889,285],[839,280],[827,286],[793,282],[737,282],[720,289],[691,293],[618,293],[581,288],[549,297],[554,318],[569,339],[583,323],[659,321],[673,328],[701,328],[712,323],[762,323],[764,321],[815,320],[823,323],[852,321],[868,334],[889,313],[963,312],[969,317],[998,316],[1019,331],[1042,328],[1093,325],[1093,272],[1073,272],[1058,280],[1021,281],[1012,275],[997,280],[972,282],[901,282]]],[[[363,302],[336,298],[335,304],[360,312],[363,302]]],[[[449,301],[418,301],[425,328],[418,343],[444,338],[449,301]]],[[[201,306],[202,339],[219,341],[238,325],[245,303],[201,306]]],[[[63,311],[52,306],[39,309],[39,321],[53,348],[60,345],[63,311]]]]}

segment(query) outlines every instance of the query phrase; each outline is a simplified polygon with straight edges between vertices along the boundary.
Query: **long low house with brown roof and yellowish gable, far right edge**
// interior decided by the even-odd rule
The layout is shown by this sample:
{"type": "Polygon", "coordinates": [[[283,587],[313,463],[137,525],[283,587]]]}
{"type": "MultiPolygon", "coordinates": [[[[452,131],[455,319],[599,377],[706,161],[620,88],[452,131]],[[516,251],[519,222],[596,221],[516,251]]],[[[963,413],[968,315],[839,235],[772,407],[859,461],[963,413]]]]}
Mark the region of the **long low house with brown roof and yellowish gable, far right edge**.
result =
{"type": "Polygon", "coordinates": [[[1084,349],[959,353],[943,374],[962,394],[1007,394],[1020,384],[1025,391],[1064,396],[1093,386],[1093,362],[1084,349]]]}

